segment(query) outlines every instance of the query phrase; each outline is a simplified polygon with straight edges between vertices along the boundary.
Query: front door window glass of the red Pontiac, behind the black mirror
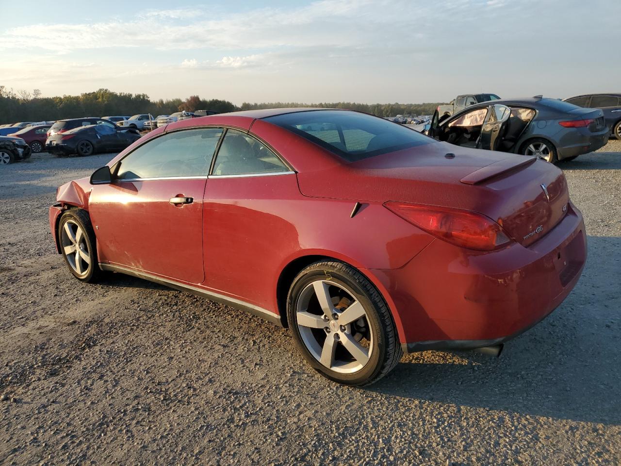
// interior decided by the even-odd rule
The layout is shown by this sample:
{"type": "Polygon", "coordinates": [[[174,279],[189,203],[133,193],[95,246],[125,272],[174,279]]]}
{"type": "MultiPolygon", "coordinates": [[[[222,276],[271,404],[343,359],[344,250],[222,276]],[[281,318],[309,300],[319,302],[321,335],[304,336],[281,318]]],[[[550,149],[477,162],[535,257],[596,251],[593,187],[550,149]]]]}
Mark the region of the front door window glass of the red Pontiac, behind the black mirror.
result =
{"type": "Polygon", "coordinates": [[[120,161],[117,180],[207,176],[222,128],[175,131],[156,137],[120,161]]]}

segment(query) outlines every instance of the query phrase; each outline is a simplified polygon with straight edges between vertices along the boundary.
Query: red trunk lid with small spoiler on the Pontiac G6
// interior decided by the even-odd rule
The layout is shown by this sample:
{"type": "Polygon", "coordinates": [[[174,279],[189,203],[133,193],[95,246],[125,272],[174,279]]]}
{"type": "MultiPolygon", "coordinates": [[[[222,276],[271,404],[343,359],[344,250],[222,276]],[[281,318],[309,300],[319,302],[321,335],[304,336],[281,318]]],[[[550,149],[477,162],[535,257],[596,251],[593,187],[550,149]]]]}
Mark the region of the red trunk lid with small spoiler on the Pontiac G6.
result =
{"type": "Polygon", "coordinates": [[[443,142],[297,176],[306,196],[361,203],[402,201],[479,212],[523,245],[560,222],[569,202],[563,173],[550,163],[443,142]]]}

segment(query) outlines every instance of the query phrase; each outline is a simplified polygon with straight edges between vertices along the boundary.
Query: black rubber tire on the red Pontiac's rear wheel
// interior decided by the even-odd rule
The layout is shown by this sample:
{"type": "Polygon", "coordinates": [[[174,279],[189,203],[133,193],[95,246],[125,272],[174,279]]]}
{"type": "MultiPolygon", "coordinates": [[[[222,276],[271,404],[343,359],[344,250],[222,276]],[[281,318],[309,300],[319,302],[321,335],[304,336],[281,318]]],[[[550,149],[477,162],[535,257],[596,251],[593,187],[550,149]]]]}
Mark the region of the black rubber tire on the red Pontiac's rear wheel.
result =
{"type": "MultiPolygon", "coordinates": [[[[310,291],[310,295],[312,296],[312,291],[310,291]]],[[[348,298],[345,299],[347,300],[348,298]]],[[[403,355],[394,321],[392,321],[391,313],[384,299],[364,275],[345,263],[325,260],[315,262],[304,268],[304,270],[294,278],[291,288],[289,289],[289,295],[287,296],[287,316],[289,327],[291,328],[291,333],[296,341],[297,347],[307,362],[309,362],[317,372],[324,375],[324,377],[342,383],[343,385],[363,386],[374,383],[391,372],[403,355]],[[311,334],[313,338],[317,336],[319,340],[322,339],[322,335],[325,335],[323,344],[325,345],[325,342],[327,342],[330,337],[333,337],[334,342],[330,344],[330,346],[335,346],[335,350],[332,352],[332,359],[336,359],[337,354],[344,355],[345,359],[349,356],[350,359],[353,359],[353,362],[349,363],[351,365],[358,363],[358,361],[353,357],[353,354],[345,349],[342,340],[345,339],[346,333],[349,336],[348,338],[351,337],[355,339],[357,336],[360,336],[361,339],[365,338],[360,332],[366,331],[366,338],[370,336],[370,339],[358,340],[361,346],[364,346],[362,345],[363,343],[368,344],[367,347],[363,348],[367,350],[367,359],[361,368],[353,370],[350,373],[337,372],[337,370],[331,368],[335,367],[338,369],[336,364],[332,365],[332,363],[330,363],[330,367],[327,367],[320,363],[320,360],[312,353],[313,349],[309,349],[309,346],[307,346],[298,326],[297,309],[298,305],[301,305],[302,309],[305,309],[307,314],[309,314],[311,313],[310,304],[312,302],[316,303],[315,307],[319,306],[319,300],[316,296],[315,298],[310,298],[311,301],[309,301],[307,307],[304,306],[304,299],[306,299],[304,296],[309,295],[309,292],[306,290],[312,290],[314,286],[312,285],[313,283],[325,283],[325,285],[327,285],[325,289],[330,290],[329,295],[331,296],[332,304],[333,306],[337,306],[335,309],[338,311],[347,311],[348,306],[358,301],[364,309],[365,316],[352,321],[351,324],[342,322],[347,325],[347,330],[343,330],[345,327],[340,326],[340,331],[342,332],[339,331],[339,326],[337,324],[337,328],[332,329],[332,334],[330,333],[329,327],[325,327],[325,329],[313,327],[311,329],[302,326],[305,331],[306,339],[308,340],[309,334],[311,334]],[[335,290],[337,291],[335,292],[335,290]],[[355,301],[349,301],[347,307],[338,309],[338,306],[342,303],[342,301],[338,300],[339,296],[342,296],[340,293],[343,293],[345,296],[350,296],[355,299],[355,301]],[[312,301],[312,299],[315,299],[315,301],[312,301]],[[335,301],[337,301],[338,304],[335,304],[335,301]],[[362,322],[361,328],[358,327],[360,322],[362,322]],[[337,338],[337,334],[342,334],[343,337],[337,338]]],[[[319,321],[319,324],[323,318],[324,322],[326,322],[326,326],[338,322],[338,320],[325,320],[324,312],[321,311],[321,309],[319,309],[318,314],[313,314],[313,317],[319,321]]],[[[335,315],[335,318],[338,319],[338,316],[335,315]]],[[[319,341],[315,343],[317,343],[317,347],[322,345],[319,341]]],[[[335,361],[335,363],[336,362],[337,361],[335,361]]],[[[341,362],[338,361],[338,363],[341,362]]],[[[347,363],[347,361],[345,363],[347,363]]]]}

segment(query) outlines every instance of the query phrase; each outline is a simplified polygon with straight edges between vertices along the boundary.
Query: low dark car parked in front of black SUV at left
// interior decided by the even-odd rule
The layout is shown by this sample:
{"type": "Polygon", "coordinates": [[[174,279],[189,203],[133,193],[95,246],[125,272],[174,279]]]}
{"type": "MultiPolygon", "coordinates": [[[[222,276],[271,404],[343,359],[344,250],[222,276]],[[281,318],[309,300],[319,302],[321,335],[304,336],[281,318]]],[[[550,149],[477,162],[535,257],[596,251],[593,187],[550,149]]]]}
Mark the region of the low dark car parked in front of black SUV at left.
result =
{"type": "Polygon", "coordinates": [[[124,129],[107,120],[100,120],[94,125],[76,127],[48,137],[45,148],[57,155],[76,153],[85,157],[95,152],[122,150],[138,139],[140,133],[137,129],[124,129]]]}

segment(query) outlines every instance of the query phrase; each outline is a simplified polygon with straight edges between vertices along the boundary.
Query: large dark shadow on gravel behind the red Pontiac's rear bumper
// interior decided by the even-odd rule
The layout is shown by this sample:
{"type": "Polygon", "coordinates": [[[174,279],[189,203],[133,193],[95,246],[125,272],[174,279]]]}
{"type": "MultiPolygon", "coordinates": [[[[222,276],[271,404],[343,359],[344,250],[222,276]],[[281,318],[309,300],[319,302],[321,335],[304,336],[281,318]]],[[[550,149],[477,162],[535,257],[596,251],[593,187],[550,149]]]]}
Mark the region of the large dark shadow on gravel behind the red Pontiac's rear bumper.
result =
{"type": "Polygon", "coordinates": [[[365,390],[556,419],[621,424],[621,238],[588,238],[576,288],[494,359],[474,352],[406,355],[365,390]]]}

